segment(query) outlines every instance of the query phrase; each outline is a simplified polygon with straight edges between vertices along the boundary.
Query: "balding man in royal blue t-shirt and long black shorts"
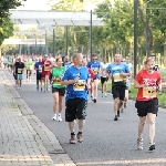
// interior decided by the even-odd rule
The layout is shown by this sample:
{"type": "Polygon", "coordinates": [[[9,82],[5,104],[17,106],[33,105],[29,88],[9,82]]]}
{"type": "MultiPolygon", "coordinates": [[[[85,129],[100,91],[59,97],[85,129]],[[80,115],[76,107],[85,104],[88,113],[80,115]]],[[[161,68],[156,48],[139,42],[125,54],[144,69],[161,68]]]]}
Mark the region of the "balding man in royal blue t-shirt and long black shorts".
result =
{"type": "Polygon", "coordinates": [[[71,132],[70,144],[75,144],[75,120],[79,124],[77,141],[79,143],[83,142],[82,129],[86,117],[87,90],[90,89],[91,75],[87,68],[83,66],[82,63],[83,55],[80,53],[74,54],[73,65],[66,69],[61,82],[61,84],[66,85],[65,121],[69,122],[71,132]]]}

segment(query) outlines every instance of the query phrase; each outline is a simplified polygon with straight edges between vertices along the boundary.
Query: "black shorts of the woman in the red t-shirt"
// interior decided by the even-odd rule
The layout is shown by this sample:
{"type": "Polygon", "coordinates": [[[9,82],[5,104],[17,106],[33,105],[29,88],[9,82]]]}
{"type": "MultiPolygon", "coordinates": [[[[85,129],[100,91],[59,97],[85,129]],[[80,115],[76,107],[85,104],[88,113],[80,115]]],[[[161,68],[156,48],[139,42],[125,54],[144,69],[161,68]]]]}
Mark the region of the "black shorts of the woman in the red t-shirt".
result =
{"type": "Polygon", "coordinates": [[[136,101],[135,107],[137,108],[137,115],[143,117],[147,113],[156,114],[158,112],[158,98],[151,101],[136,101]]]}

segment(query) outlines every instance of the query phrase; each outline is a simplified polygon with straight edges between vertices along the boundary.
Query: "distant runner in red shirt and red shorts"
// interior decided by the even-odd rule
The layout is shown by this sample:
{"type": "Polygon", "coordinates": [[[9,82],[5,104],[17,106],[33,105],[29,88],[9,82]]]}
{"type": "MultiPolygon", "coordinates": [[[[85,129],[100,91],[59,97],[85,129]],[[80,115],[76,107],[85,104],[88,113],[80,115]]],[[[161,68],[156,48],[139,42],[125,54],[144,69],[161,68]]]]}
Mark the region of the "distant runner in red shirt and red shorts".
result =
{"type": "Polygon", "coordinates": [[[49,89],[49,76],[50,76],[50,70],[51,70],[51,61],[48,60],[48,55],[44,55],[44,59],[42,60],[42,77],[44,80],[44,91],[50,91],[49,89]]]}

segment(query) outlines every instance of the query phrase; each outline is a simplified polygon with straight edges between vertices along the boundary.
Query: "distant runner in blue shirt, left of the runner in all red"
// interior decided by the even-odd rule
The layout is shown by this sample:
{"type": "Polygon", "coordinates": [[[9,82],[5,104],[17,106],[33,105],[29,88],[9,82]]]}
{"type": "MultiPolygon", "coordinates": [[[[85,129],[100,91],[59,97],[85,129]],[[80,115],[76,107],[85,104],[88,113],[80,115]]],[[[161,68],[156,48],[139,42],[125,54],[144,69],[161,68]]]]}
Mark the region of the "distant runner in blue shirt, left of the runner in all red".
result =
{"type": "Polygon", "coordinates": [[[39,58],[39,62],[35,62],[34,70],[37,71],[37,91],[42,91],[42,58],[39,58]]]}

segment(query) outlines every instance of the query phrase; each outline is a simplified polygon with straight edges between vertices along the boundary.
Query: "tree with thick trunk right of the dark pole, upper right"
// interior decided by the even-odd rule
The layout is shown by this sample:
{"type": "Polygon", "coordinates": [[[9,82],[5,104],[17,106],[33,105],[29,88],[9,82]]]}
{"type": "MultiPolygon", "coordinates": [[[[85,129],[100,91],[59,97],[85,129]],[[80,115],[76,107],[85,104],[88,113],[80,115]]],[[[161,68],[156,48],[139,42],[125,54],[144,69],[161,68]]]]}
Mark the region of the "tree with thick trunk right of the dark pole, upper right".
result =
{"type": "Polygon", "coordinates": [[[166,2],[160,0],[141,1],[138,0],[138,12],[144,25],[144,35],[146,39],[146,54],[149,56],[154,52],[154,34],[160,38],[166,34],[166,2]],[[154,27],[155,25],[155,27],[154,27]],[[159,34],[159,35],[158,35],[159,34]]]}

